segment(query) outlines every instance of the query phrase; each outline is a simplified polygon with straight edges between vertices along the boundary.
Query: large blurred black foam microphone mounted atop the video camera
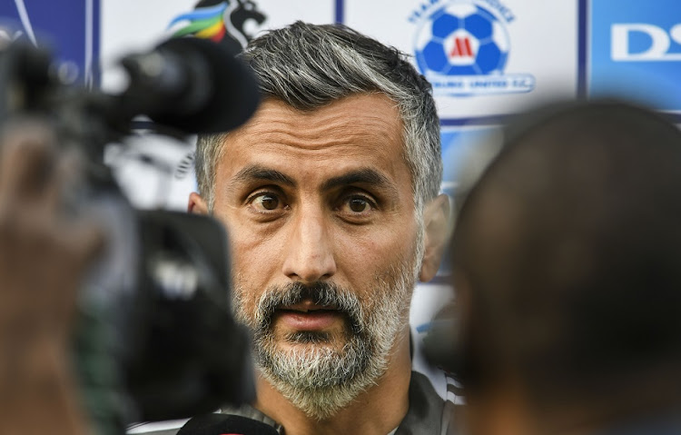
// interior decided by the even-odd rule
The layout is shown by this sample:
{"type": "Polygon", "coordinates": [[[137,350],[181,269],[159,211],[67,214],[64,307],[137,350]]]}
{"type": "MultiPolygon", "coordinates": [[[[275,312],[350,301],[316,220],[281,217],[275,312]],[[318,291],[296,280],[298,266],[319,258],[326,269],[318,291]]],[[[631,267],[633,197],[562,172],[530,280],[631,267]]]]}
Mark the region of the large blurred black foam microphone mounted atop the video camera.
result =
{"type": "MultiPolygon", "coordinates": [[[[130,85],[120,112],[146,114],[185,133],[220,133],[245,123],[260,102],[255,77],[226,45],[184,37],[121,61],[130,85]]],[[[131,116],[132,117],[132,116],[131,116]]]]}

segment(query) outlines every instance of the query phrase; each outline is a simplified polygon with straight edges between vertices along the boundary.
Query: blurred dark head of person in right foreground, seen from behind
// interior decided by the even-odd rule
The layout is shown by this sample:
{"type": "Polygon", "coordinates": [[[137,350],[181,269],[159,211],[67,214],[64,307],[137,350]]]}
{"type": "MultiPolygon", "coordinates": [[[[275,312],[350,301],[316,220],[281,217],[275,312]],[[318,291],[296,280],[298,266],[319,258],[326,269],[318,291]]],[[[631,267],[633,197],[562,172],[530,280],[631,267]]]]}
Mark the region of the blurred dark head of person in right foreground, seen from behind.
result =
{"type": "Polygon", "coordinates": [[[681,403],[674,124],[597,102],[512,125],[452,250],[476,435],[589,432],[681,403]]]}

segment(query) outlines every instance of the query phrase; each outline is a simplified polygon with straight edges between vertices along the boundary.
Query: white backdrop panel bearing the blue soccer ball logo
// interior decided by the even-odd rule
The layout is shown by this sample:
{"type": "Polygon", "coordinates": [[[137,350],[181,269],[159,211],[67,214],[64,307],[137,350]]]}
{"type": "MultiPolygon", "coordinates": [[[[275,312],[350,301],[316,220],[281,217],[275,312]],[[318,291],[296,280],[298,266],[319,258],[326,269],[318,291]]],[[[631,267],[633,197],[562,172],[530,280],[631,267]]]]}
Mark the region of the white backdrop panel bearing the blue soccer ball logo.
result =
{"type": "Polygon", "coordinates": [[[414,56],[444,120],[577,94],[575,0],[346,0],[345,23],[414,56]]]}

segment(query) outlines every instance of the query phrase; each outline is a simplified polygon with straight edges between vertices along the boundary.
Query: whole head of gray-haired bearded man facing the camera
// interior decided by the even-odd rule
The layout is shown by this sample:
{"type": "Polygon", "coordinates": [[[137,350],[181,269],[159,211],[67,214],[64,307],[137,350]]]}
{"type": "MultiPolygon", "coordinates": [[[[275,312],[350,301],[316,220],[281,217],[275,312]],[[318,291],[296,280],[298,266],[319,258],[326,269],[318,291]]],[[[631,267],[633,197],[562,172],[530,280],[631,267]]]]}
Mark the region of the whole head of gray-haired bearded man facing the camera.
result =
{"type": "Polygon", "coordinates": [[[447,221],[439,121],[404,56],[344,26],[296,23],[242,58],[263,103],[199,138],[190,209],[230,232],[262,378],[324,420],[403,357],[408,381],[411,292],[437,272],[447,221]]]}

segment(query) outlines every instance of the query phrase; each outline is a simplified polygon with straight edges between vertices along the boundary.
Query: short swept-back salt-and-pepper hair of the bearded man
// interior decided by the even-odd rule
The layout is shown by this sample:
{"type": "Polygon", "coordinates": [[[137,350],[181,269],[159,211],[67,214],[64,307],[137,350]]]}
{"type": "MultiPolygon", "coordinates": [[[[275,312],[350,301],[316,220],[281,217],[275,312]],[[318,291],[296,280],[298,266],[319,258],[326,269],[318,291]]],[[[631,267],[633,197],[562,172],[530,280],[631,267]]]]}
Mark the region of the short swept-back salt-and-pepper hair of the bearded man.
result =
{"type": "MultiPolygon", "coordinates": [[[[438,114],[430,84],[405,54],[344,25],[299,21],[252,40],[241,55],[258,78],[264,98],[279,99],[301,111],[350,94],[386,94],[400,111],[417,212],[438,195],[442,178],[438,114]]],[[[199,191],[210,210],[226,134],[202,134],[196,145],[199,191]]]]}

